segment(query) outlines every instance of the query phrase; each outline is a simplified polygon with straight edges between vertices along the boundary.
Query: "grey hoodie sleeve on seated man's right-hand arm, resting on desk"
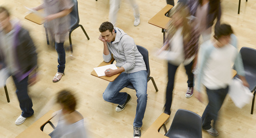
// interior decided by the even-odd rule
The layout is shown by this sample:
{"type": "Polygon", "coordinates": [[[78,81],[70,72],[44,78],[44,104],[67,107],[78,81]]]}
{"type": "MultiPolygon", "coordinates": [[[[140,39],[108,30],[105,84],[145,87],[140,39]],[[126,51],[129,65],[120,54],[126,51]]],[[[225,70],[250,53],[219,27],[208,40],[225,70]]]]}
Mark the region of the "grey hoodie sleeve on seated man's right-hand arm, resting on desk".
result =
{"type": "Polygon", "coordinates": [[[134,40],[131,37],[123,38],[122,46],[126,57],[126,63],[122,66],[125,71],[133,69],[135,67],[135,46],[134,40]]]}

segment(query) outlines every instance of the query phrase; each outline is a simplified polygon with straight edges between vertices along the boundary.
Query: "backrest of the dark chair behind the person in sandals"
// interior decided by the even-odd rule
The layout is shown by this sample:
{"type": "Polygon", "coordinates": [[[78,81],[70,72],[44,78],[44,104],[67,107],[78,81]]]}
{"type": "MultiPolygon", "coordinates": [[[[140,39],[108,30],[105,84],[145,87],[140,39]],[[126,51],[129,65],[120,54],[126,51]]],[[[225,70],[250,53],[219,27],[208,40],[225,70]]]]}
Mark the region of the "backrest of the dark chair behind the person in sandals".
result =
{"type": "Polygon", "coordinates": [[[79,24],[79,14],[78,14],[78,2],[77,0],[72,0],[74,3],[72,12],[70,13],[71,16],[71,28],[73,28],[75,25],[79,24]]]}

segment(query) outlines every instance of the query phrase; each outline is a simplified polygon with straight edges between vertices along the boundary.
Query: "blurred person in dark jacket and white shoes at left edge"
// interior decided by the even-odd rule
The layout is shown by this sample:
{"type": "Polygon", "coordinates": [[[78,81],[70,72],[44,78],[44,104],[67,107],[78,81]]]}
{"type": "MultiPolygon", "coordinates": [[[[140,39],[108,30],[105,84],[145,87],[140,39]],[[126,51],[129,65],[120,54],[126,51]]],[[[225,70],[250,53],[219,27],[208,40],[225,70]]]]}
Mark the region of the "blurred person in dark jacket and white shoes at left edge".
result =
{"type": "Polygon", "coordinates": [[[17,88],[16,95],[22,113],[15,124],[20,125],[34,114],[33,103],[28,96],[28,84],[36,80],[37,53],[28,30],[18,21],[11,20],[8,10],[0,7],[0,69],[3,68],[12,75],[17,88]]]}

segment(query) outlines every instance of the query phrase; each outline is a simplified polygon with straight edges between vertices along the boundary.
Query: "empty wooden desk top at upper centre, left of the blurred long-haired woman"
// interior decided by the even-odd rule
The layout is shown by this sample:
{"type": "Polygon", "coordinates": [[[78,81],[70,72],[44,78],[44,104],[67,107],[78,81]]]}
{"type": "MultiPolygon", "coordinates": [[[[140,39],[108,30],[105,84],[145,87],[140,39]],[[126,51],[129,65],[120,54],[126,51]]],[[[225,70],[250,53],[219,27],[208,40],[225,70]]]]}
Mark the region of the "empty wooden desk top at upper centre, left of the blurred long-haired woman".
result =
{"type": "Polygon", "coordinates": [[[167,4],[161,11],[148,20],[148,23],[159,28],[167,29],[167,24],[171,18],[165,16],[165,14],[169,12],[172,7],[172,5],[167,4]]]}

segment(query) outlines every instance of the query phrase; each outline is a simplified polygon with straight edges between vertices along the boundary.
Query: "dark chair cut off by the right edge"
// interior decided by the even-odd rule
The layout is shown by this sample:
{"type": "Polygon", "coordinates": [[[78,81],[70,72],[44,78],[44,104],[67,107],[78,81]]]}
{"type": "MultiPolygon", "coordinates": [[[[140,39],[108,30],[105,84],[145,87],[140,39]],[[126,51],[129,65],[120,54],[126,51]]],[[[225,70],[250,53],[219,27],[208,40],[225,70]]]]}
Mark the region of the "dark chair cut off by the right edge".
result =
{"type": "MultiPolygon", "coordinates": [[[[249,83],[250,91],[254,93],[253,102],[252,102],[252,109],[251,114],[254,111],[254,101],[255,101],[255,89],[256,89],[256,49],[249,48],[249,47],[242,47],[240,50],[242,56],[242,63],[245,71],[245,79],[249,83]]],[[[234,66],[234,69],[236,67],[234,66]]],[[[234,78],[238,78],[236,75],[234,78]]]]}

